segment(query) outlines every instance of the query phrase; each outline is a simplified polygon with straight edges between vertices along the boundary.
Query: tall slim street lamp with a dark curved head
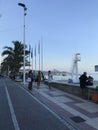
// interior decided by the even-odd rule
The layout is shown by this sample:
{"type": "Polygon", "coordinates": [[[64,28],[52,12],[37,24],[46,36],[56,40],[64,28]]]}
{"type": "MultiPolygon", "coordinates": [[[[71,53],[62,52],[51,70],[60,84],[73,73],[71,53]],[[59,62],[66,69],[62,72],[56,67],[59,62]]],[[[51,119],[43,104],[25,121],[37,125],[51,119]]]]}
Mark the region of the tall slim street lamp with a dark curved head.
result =
{"type": "Polygon", "coordinates": [[[18,3],[19,6],[24,9],[24,32],[23,32],[23,42],[24,42],[24,53],[23,53],[23,83],[25,84],[25,16],[26,16],[26,6],[23,3],[18,3]]]}

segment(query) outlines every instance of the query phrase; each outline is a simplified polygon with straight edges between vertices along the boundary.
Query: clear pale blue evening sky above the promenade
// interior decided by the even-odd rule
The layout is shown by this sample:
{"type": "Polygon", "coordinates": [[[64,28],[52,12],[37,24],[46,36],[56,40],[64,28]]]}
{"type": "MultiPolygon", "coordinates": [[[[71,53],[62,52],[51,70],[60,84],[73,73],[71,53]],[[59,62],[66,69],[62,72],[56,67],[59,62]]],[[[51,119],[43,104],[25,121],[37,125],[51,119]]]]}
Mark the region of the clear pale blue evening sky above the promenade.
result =
{"type": "Polygon", "coordinates": [[[42,39],[44,70],[69,72],[74,54],[80,53],[78,71],[95,71],[98,0],[0,0],[0,54],[12,41],[23,42],[23,8],[18,3],[27,7],[25,43],[35,48],[42,39]]]}

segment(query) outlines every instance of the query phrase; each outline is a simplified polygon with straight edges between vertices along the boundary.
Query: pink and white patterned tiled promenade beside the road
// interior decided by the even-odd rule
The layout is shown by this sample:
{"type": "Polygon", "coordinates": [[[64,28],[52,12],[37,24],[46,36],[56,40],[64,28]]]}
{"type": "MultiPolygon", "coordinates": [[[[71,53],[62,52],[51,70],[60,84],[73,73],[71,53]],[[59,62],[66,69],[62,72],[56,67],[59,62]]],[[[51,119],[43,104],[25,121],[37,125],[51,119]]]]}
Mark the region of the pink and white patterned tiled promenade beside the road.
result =
{"type": "Polygon", "coordinates": [[[60,91],[33,84],[33,95],[79,130],[98,130],[98,104],[60,91]]]}

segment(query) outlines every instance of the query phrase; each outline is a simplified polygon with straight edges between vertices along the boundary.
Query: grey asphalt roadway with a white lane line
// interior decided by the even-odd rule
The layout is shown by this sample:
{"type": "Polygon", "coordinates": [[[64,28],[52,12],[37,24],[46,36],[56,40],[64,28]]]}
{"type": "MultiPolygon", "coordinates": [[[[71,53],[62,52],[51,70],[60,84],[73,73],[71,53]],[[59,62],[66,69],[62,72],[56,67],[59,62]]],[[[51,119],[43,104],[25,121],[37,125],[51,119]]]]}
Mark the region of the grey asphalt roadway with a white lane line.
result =
{"type": "Polygon", "coordinates": [[[0,79],[0,130],[68,130],[68,127],[16,82],[0,79]]]}

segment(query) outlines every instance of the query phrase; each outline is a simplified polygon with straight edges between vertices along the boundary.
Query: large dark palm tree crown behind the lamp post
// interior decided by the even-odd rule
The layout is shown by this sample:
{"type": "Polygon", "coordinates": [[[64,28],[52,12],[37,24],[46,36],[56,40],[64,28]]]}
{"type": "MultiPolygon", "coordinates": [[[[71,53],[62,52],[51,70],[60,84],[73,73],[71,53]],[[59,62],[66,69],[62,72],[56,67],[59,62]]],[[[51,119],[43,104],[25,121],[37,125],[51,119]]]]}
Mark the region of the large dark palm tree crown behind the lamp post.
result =
{"type": "MultiPolygon", "coordinates": [[[[4,51],[2,52],[2,56],[5,56],[2,68],[7,69],[9,67],[9,70],[11,72],[19,72],[19,69],[23,66],[23,50],[24,50],[24,44],[22,44],[19,41],[13,41],[14,47],[4,47],[4,51]]],[[[25,47],[27,48],[27,46],[25,47]]],[[[25,58],[26,58],[26,64],[28,62],[27,57],[30,52],[28,50],[25,50],[25,58]]]]}

